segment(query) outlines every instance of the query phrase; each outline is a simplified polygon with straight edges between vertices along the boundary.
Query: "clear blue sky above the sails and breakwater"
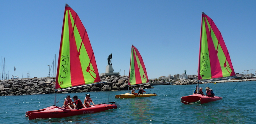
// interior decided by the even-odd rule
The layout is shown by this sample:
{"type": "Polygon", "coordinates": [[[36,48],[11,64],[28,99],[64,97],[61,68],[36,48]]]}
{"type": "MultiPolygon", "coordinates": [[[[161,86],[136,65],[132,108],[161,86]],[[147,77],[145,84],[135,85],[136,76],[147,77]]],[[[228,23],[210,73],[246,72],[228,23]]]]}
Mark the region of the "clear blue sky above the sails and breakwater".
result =
{"type": "Polygon", "coordinates": [[[28,72],[30,77],[48,76],[47,65],[59,55],[65,4],[87,30],[99,73],[105,72],[112,53],[114,72],[128,75],[133,44],[149,78],[182,74],[185,69],[188,75],[197,74],[202,11],[222,33],[235,72],[256,71],[253,0],[1,0],[0,4],[0,57],[5,57],[9,77],[14,66],[14,75],[20,78],[27,78],[28,72]]]}

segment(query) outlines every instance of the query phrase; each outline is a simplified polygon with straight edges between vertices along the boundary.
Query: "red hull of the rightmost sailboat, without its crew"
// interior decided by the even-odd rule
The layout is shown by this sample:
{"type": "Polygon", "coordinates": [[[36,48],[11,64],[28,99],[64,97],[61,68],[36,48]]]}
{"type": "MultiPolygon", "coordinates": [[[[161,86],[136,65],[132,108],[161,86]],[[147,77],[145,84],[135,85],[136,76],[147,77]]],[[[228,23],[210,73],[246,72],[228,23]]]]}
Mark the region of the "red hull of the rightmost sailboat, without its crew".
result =
{"type": "Polygon", "coordinates": [[[201,94],[193,94],[185,97],[181,97],[180,101],[184,104],[194,104],[196,102],[200,102],[200,104],[217,101],[222,99],[222,97],[207,97],[201,94]]]}

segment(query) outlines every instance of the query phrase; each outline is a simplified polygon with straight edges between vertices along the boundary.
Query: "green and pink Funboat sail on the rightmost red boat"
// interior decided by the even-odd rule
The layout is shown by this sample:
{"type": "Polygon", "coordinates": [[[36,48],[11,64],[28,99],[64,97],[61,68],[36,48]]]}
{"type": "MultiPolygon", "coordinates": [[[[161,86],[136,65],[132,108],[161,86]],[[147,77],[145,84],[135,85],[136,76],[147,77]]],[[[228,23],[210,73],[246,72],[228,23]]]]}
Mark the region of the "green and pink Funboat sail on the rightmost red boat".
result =
{"type": "Polygon", "coordinates": [[[202,12],[198,80],[235,75],[219,29],[212,19],[202,12]]]}

